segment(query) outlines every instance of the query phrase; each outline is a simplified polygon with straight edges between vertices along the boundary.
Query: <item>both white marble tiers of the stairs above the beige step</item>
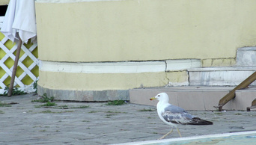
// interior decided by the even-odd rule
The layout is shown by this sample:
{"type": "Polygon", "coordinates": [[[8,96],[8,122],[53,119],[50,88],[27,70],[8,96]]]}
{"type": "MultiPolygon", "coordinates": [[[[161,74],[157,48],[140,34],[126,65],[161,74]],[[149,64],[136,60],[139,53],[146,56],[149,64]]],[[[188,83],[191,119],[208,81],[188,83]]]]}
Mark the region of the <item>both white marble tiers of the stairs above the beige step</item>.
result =
{"type": "MultiPolygon", "coordinates": [[[[236,86],[256,71],[256,47],[237,49],[234,67],[190,68],[189,85],[236,86]]],[[[256,85],[256,82],[252,85],[256,85]]]]}

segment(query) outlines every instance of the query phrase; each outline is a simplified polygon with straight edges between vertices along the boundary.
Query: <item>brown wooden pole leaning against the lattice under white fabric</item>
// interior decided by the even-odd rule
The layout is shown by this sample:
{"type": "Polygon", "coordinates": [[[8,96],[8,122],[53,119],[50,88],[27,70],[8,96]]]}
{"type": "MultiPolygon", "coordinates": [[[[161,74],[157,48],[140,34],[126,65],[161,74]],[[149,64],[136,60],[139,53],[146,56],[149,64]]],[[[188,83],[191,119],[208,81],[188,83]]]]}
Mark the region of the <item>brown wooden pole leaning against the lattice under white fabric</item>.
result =
{"type": "Polygon", "coordinates": [[[22,46],[22,40],[19,38],[18,46],[16,49],[16,57],[15,57],[14,65],[13,65],[13,73],[11,75],[10,86],[9,86],[7,96],[11,96],[13,93],[13,84],[15,81],[15,75],[16,75],[16,70],[17,70],[17,66],[18,66],[18,62],[19,62],[19,53],[20,53],[21,46],[22,46]]]}

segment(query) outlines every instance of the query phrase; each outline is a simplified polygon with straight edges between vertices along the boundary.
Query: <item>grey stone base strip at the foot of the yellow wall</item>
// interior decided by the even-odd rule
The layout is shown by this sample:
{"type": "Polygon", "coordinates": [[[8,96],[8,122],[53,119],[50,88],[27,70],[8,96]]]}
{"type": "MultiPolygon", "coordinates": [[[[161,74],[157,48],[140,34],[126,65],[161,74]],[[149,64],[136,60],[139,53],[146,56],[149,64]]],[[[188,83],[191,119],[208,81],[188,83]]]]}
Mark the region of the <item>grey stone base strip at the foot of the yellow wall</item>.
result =
{"type": "Polygon", "coordinates": [[[54,90],[37,85],[37,93],[54,96],[57,100],[101,102],[111,100],[129,100],[129,90],[54,90]]]}

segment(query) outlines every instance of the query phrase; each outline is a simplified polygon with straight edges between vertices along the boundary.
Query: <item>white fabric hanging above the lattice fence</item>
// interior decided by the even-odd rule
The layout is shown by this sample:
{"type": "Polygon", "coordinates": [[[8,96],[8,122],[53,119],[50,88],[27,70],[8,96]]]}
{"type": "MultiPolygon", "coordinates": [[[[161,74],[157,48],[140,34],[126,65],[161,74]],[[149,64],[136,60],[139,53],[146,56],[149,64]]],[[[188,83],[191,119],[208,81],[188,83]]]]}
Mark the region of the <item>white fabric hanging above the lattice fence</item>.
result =
{"type": "Polygon", "coordinates": [[[13,42],[18,40],[17,33],[24,43],[36,41],[37,27],[34,0],[10,0],[1,27],[1,33],[13,42]]]}

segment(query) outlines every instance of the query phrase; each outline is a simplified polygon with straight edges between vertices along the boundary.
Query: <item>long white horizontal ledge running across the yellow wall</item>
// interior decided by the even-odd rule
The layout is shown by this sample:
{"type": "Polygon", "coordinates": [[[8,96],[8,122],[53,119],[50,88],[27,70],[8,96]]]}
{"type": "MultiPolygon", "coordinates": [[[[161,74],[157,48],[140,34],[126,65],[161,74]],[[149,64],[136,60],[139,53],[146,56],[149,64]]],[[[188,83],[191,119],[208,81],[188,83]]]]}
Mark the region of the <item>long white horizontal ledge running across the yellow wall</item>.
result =
{"type": "Polygon", "coordinates": [[[40,61],[40,71],[73,73],[141,73],[164,72],[165,61],[138,62],[58,62],[40,61]]]}

